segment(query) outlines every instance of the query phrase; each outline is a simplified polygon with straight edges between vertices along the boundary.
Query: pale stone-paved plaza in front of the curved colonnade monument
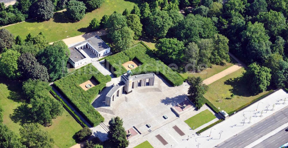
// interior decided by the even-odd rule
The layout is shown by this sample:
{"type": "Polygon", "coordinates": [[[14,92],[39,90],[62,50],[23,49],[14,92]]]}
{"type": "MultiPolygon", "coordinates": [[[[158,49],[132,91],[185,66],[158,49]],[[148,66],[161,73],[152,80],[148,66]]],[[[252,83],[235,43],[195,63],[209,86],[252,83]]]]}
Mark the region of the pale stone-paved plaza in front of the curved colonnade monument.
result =
{"type": "MultiPolygon", "coordinates": [[[[101,73],[110,75],[109,71],[105,69],[103,65],[97,62],[93,63],[93,65],[101,73]]],[[[105,118],[105,125],[108,126],[108,122],[112,117],[119,116],[123,119],[125,130],[132,128],[137,131],[137,135],[129,137],[130,143],[133,143],[131,146],[135,146],[137,143],[140,144],[139,142],[144,142],[145,139],[150,139],[149,142],[152,145],[163,145],[155,136],[151,137],[151,135],[155,134],[160,134],[168,143],[171,143],[172,141],[175,141],[173,140],[175,138],[178,140],[183,139],[186,135],[191,135],[191,133],[195,133],[197,130],[219,120],[217,114],[208,106],[204,105],[200,110],[197,110],[193,104],[193,106],[185,108],[185,110],[181,112],[182,114],[179,118],[179,116],[171,110],[171,107],[188,99],[187,91],[189,85],[183,83],[181,86],[173,87],[160,75],[156,75],[154,86],[137,87],[133,89],[132,93],[123,94],[117,97],[112,106],[106,106],[105,96],[107,92],[113,87],[113,84],[116,85],[119,82],[120,77],[112,78],[112,80],[106,84],[106,88],[96,96],[92,106],[94,106],[94,108],[105,118]],[[190,129],[184,120],[206,109],[210,110],[218,118],[215,118],[197,129],[190,129]],[[164,119],[164,115],[168,118],[164,119]],[[148,128],[146,124],[150,124],[151,127],[148,128]],[[175,125],[183,131],[185,136],[180,136],[179,133],[175,131],[173,128],[175,125]],[[158,130],[159,128],[164,128],[164,131],[168,130],[171,132],[169,132],[169,135],[163,135],[162,132],[164,131],[158,130]],[[149,129],[151,129],[151,132],[148,131],[149,129]]],[[[97,135],[103,140],[107,139],[107,131],[100,125],[92,129],[93,135],[97,135]]]]}

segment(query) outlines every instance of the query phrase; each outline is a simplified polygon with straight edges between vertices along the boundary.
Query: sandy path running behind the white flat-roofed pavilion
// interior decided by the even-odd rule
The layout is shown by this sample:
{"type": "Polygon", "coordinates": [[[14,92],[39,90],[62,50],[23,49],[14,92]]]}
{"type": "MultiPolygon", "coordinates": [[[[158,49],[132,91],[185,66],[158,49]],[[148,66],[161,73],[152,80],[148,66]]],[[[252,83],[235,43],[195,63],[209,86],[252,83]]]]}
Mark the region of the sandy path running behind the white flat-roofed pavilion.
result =
{"type": "MultiPolygon", "coordinates": [[[[71,46],[73,46],[79,42],[87,40],[88,38],[92,38],[94,36],[104,36],[106,34],[107,34],[106,30],[100,29],[100,30],[89,32],[86,34],[81,34],[79,36],[74,36],[71,38],[65,38],[65,39],[62,39],[62,41],[64,41],[67,46],[71,47],[71,46]]],[[[53,42],[51,42],[49,44],[53,44],[53,42]]]]}

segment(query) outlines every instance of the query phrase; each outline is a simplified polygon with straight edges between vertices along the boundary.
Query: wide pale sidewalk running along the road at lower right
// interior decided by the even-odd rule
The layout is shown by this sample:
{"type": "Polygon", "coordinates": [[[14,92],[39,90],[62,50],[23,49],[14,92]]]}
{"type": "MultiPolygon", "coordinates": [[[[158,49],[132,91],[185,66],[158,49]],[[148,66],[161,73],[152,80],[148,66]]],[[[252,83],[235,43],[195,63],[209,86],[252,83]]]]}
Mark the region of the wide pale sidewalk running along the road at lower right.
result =
{"type": "Polygon", "coordinates": [[[267,113],[263,113],[263,117],[255,116],[255,109],[257,108],[258,103],[254,103],[253,105],[245,108],[244,110],[236,113],[235,115],[231,116],[229,119],[224,120],[223,122],[213,126],[215,132],[211,133],[211,137],[206,137],[210,134],[210,130],[206,130],[201,133],[200,136],[194,135],[191,140],[189,141],[182,141],[179,145],[175,145],[173,147],[214,147],[226,139],[236,135],[244,131],[245,129],[257,124],[258,122],[262,121],[266,117],[274,114],[275,112],[281,110],[282,108],[288,106],[288,102],[286,104],[282,104],[283,101],[281,99],[288,98],[288,93],[286,93],[283,89],[280,89],[270,96],[265,97],[264,99],[260,100],[263,102],[259,104],[258,110],[265,110],[268,107],[267,113]],[[276,104],[278,103],[278,104],[276,104]],[[275,104],[274,111],[272,111],[272,105],[275,104]],[[251,117],[251,123],[249,124],[248,121],[243,124],[243,113],[245,112],[245,116],[247,120],[251,117]]]}

